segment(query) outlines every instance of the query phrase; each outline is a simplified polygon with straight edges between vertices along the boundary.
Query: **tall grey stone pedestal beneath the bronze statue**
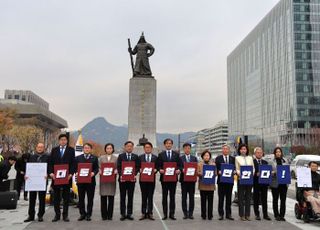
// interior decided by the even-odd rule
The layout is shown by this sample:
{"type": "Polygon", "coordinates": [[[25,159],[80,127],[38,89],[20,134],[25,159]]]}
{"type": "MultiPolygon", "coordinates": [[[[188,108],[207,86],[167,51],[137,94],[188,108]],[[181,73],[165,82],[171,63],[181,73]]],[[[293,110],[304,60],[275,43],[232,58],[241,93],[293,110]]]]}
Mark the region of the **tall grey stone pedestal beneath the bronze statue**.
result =
{"type": "Polygon", "coordinates": [[[143,134],[154,147],[156,139],[157,81],[153,77],[135,76],[130,79],[128,140],[139,144],[143,134]]]}

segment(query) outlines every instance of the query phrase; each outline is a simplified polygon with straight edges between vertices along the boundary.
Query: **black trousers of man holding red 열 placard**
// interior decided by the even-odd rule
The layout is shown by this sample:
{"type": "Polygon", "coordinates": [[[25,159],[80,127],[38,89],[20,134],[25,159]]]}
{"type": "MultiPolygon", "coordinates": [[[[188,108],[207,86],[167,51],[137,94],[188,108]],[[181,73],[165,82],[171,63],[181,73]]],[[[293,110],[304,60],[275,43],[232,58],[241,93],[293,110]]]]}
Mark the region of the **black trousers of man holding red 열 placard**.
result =
{"type": "Polygon", "coordinates": [[[174,216],[176,209],[177,182],[161,182],[163,215],[168,216],[168,194],[170,196],[169,216],[174,216]]]}

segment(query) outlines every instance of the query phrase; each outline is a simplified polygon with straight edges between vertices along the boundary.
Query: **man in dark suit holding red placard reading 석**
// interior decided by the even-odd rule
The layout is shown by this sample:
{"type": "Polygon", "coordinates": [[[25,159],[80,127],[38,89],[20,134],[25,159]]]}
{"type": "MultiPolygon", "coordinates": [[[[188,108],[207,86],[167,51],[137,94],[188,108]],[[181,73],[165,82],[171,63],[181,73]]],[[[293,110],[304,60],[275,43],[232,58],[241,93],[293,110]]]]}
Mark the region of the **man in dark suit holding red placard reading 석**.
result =
{"type": "MultiPolygon", "coordinates": [[[[141,218],[139,220],[144,220],[146,218],[150,220],[154,220],[153,217],[153,194],[154,194],[154,189],[156,185],[156,172],[157,172],[157,156],[152,154],[153,146],[152,143],[147,142],[144,144],[144,154],[140,155],[140,162],[153,162],[155,164],[155,169],[154,169],[154,181],[153,182],[142,182],[140,179],[140,189],[141,189],[141,198],[142,198],[142,203],[141,203],[141,218]]],[[[140,175],[141,175],[140,171],[140,175]]]]}

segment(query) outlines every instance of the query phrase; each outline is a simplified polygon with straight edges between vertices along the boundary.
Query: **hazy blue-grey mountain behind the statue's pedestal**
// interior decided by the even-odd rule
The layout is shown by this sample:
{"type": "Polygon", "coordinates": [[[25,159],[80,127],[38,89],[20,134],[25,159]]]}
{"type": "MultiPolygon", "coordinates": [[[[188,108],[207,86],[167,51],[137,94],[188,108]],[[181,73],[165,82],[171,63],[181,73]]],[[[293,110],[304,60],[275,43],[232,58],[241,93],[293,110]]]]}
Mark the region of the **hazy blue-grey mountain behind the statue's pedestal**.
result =
{"type": "MultiPolygon", "coordinates": [[[[123,143],[128,140],[128,126],[126,124],[122,126],[113,125],[103,117],[97,117],[87,123],[81,129],[81,133],[85,140],[92,140],[102,145],[111,142],[116,148],[120,148],[123,143]]],[[[195,132],[181,133],[181,142],[187,140],[194,134],[195,132]]],[[[72,135],[77,138],[78,132],[74,131],[72,135]]],[[[162,146],[162,142],[166,138],[171,138],[175,144],[178,143],[178,134],[157,133],[157,145],[162,146]]]]}

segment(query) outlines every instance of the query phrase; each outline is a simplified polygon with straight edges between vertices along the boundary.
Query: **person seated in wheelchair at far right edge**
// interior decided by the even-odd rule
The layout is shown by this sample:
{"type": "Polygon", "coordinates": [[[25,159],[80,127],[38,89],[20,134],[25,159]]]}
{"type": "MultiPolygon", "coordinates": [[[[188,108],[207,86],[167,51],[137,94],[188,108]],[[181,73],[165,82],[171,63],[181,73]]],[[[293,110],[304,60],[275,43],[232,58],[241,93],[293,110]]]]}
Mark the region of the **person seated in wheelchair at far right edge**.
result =
{"type": "MultiPolygon", "coordinates": [[[[311,169],[311,181],[312,187],[305,188],[303,195],[308,202],[310,202],[314,213],[320,217],[320,174],[317,173],[319,163],[315,161],[309,162],[309,168],[311,169]]],[[[307,209],[305,209],[307,210],[307,209]]]]}

